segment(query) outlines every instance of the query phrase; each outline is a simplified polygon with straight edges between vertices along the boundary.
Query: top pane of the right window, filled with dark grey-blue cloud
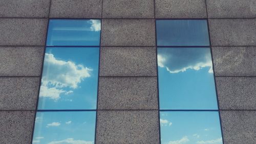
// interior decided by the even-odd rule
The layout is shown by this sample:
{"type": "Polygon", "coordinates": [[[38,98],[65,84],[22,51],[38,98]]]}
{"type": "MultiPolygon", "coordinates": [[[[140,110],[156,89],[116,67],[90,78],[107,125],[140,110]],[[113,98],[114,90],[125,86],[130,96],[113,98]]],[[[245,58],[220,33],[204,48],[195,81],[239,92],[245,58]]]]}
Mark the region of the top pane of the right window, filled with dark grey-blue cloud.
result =
{"type": "Polygon", "coordinates": [[[208,46],[206,20],[157,20],[157,45],[208,46]]]}

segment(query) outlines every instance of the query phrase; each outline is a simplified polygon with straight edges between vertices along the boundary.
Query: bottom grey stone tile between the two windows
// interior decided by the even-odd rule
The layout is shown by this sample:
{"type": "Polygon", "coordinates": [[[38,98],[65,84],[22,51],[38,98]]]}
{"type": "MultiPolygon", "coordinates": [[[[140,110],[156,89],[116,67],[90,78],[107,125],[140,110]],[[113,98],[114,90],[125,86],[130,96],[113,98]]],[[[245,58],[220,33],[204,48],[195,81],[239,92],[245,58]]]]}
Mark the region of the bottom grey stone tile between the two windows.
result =
{"type": "Polygon", "coordinates": [[[98,111],[96,143],[159,143],[158,111],[98,111]]]}

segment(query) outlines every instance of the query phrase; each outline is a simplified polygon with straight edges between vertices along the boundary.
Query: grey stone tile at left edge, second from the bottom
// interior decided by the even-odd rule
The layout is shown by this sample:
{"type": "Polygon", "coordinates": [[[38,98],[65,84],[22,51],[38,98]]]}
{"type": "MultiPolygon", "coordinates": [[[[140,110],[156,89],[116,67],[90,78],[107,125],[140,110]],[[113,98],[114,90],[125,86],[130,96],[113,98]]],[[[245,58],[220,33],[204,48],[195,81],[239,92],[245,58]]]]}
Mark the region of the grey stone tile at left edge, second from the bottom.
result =
{"type": "Polygon", "coordinates": [[[35,110],[39,83],[39,77],[1,77],[0,110],[35,110]]]}

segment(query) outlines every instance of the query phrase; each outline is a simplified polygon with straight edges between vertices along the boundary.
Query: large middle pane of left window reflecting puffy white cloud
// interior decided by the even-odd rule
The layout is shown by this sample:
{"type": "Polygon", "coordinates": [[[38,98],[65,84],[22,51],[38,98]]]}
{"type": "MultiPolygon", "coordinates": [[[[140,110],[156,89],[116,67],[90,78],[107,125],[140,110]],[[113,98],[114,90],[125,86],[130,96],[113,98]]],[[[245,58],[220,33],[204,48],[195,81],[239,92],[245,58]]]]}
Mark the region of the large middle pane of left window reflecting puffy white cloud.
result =
{"type": "Polygon", "coordinates": [[[99,47],[47,47],[38,109],[96,109],[99,47]]]}

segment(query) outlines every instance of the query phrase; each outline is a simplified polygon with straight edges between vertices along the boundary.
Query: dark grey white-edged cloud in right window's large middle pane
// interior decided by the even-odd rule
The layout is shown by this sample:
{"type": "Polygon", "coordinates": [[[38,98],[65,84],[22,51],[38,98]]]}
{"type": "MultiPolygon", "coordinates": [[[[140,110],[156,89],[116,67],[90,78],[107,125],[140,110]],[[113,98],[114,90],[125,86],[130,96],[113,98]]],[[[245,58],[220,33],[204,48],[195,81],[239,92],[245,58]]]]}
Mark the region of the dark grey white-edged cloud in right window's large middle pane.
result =
{"type": "Polygon", "coordinates": [[[208,73],[213,73],[210,50],[206,48],[159,49],[157,60],[158,66],[165,67],[169,73],[199,70],[203,67],[209,67],[208,73]]]}

